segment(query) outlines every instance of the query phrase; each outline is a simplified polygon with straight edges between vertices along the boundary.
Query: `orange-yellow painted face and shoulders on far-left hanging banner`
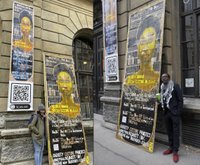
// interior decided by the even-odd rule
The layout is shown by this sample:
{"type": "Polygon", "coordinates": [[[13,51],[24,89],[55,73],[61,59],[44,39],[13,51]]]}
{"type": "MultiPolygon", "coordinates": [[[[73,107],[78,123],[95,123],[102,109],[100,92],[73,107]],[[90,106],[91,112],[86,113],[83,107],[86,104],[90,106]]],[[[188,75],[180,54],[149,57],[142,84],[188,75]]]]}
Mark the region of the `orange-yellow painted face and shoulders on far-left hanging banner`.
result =
{"type": "Polygon", "coordinates": [[[20,28],[22,32],[22,38],[20,40],[15,40],[13,42],[14,47],[18,47],[25,52],[30,52],[33,49],[33,44],[29,38],[29,34],[31,31],[31,20],[30,18],[24,16],[21,19],[20,28]]]}

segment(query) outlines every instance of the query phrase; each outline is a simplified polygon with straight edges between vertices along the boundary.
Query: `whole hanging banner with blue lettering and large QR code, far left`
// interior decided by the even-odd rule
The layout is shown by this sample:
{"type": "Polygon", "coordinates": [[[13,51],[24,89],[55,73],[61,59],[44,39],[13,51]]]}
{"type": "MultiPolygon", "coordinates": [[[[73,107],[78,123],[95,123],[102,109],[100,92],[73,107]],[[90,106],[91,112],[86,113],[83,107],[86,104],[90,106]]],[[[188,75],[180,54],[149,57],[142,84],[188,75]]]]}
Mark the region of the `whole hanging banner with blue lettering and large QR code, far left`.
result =
{"type": "Polygon", "coordinates": [[[33,110],[33,7],[13,3],[8,111],[33,110]]]}

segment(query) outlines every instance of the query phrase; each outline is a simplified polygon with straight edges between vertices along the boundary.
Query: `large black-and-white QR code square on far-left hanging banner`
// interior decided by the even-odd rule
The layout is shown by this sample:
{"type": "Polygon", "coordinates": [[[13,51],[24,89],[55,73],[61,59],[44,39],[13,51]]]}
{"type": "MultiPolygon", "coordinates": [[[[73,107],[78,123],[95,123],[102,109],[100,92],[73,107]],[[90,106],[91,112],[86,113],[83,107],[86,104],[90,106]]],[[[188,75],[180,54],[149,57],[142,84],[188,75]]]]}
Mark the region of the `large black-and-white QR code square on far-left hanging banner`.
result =
{"type": "Polygon", "coordinates": [[[30,84],[12,84],[11,102],[29,103],[31,95],[30,84]]]}

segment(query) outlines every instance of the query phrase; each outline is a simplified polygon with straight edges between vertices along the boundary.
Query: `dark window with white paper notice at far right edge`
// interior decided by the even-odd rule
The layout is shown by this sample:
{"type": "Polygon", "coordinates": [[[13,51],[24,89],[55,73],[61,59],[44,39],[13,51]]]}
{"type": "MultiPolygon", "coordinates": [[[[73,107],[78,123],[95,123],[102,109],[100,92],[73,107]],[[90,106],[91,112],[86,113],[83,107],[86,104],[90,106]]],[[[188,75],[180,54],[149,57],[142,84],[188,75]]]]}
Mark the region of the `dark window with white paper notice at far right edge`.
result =
{"type": "Polygon", "coordinates": [[[200,95],[200,0],[181,0],[183,94],[200,95]]]}

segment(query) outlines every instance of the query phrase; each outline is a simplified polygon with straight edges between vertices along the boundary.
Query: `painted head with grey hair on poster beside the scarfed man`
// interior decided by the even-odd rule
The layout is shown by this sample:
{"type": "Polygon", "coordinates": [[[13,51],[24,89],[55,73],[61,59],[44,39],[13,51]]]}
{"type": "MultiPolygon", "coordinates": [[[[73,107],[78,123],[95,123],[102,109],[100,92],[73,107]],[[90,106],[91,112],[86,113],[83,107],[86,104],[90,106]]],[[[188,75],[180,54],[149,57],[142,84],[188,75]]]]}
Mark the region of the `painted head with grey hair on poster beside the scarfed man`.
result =
{"type": "Polygon", "coordinates": [[[159,20],[153,16],[142,21],[138,28],[138,57],[141,63],[151,62],[152,55],[156,48],[156,42],[160,36],[159,20]]]}

